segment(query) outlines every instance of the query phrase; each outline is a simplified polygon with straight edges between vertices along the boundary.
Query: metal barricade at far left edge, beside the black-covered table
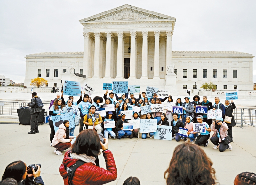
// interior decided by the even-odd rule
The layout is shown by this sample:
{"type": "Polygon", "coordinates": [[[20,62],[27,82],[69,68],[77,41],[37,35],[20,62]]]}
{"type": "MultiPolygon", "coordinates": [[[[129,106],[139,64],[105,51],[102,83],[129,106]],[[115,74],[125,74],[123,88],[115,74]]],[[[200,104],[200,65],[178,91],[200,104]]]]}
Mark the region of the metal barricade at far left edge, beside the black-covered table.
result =
{"type": "Polygon", "coordinates": [[[0,115],[18,115],[18,108],[20,108],[18,102],[0,101],[0,115]]]}

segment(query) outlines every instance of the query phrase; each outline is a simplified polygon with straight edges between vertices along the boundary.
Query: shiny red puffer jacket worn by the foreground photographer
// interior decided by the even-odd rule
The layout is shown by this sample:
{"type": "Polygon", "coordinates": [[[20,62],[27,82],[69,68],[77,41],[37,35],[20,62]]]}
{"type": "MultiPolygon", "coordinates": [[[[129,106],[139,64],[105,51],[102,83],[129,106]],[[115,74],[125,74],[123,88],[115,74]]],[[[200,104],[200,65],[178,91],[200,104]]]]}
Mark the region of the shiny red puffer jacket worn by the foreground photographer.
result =
{"type": "MultiPolygon", "coordinates": [[[[68,185],[68,174],[65,170],[76,163],[77,159],[70,158],[71,150],[64,155],[63,163],[60,166],[60,175],[63,177],[64,184],[68,185]]],[[[106,184],[117,178],[116,163],[110,150],[104,151],[103,156],[106,161],[107,170],[96,166],[93,163],[84,163],[79,166],[72,179],[73,184],[106,184]]]]}

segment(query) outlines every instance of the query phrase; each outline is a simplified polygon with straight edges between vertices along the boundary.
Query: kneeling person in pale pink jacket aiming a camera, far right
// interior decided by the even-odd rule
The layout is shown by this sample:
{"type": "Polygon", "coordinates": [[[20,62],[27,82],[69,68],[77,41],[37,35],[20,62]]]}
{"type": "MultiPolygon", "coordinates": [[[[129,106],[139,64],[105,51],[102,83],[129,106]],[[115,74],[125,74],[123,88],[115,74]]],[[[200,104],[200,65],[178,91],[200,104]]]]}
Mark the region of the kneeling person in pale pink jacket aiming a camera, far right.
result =
{"type": "Polygon", "coordinates": [[[219,116],[216,118],[216,121],[212,123],[211,130],[214,131],[214,133],[210,139],[211,142],[215,145],[213,149],[219,148],[220,152],[223,152],[228,148],[229,150],[232,150],[231,144],[224,145],[221,142],[221,138],[224,139],[225,137],[228,136],[227,134],[228,126],[225,122],[222,122],[222,121],[223,121],[223,118],[219,116]]]}

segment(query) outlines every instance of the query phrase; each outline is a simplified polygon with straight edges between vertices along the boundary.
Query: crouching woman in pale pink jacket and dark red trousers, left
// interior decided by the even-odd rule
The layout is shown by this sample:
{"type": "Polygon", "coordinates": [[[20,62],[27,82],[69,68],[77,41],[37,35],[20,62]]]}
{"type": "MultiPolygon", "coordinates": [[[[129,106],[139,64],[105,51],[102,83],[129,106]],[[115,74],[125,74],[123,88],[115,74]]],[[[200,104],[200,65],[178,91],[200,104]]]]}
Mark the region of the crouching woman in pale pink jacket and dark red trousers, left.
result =
{"type": "Polygon", "coordinates": [[[52,146],[56,148],[54,153],[57,155],[63,155],[61,151],[67,150],[71,146],[71,141],[75,136],[69,136],[69,121],[64,120],[63,124],[59,126],[59,129],[54,135],[52,140],[52,146]]]}

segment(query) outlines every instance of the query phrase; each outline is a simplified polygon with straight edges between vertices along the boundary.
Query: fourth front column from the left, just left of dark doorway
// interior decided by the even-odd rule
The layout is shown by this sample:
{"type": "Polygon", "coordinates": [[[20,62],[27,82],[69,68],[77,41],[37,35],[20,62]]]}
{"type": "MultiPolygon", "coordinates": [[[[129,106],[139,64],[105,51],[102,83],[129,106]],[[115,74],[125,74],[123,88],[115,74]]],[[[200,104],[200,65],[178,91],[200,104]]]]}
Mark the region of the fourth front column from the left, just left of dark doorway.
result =
{"type": "Polygon", "coordinates": [[[116,78],[124,78],[122,76],[123,65],[123,32],[117,32],[118,43],[117,43],[117,72],[116,78]]]}

